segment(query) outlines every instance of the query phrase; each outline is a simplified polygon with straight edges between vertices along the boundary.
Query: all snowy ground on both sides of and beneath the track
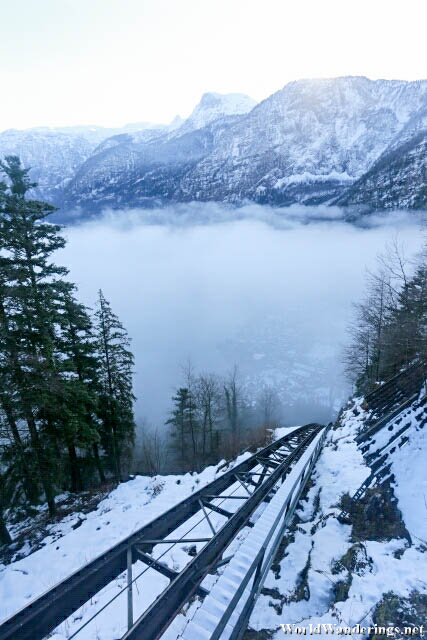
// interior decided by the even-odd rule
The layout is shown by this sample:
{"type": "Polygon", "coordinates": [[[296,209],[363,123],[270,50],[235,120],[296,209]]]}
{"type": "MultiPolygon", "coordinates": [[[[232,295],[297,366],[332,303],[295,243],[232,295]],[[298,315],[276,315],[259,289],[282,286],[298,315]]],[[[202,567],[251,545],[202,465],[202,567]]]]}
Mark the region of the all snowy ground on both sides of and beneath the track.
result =
{"type": "MultiPolygon", "coordinates": [[[[250,620],[250,627],[260,633],[260,638],[282,637],[282,624],[354,626],[359,623],[367,626],[372,622],[373,609],[383,593],[393,591],[408,596],[414,589],[427,591],[427,566],[422,553],[422,540],[427,537],[427,480],[424,472],[427,428],[419,429],[416,412],[408,410],[404,419],[414,421],[407,432],[410,434],[409,441],[402,449],[393,452],[391,459],[395,475],[394,491],[413,544],[410,546],[403,539],[363,543],[359,553],[364,562],[353,573],[348,598],[343,602],[335,602],[334,585],[348,577],[347,570],[337,570],[336,563],[352,545],[351,526],[341,524],[336,517],[340,511],[340,498],[344,492],[353,494],[370,473],[354,440],[366,417],[360,405],[361,399],[344,412],[341,428],[330,431],[327,445],[313,474],[313,486],[308,492],[308,499],[298,511],[300,521],[294,539],[288,544],[280,567],[270,571],[267,577],[265,593],[259,597],[250,620]],[[302,576],[305,576],[303,597],[302,576]],[[265,631],[269,635],[265,635],[265,631]]],[[[287,431],[279,429],[275,436],[281,437],[287,431]]],[[[387,445],[387,437],[390,437],[390,432],[382,430],[375,437],[370,452],[387,445]]],[[[249,455],[243,454],[234,464],[249,455]]],[[[52,525],[50,535],[45,538],[41,549],[7,566],[0,564],[0,623],[46,589],[226,470],[219,467],[209,467],[200,474],[136,477],[112,491],[96,510],[86,514],[74,513],[52,525]],[[74,528],[79,521],[80,524],[74,528]]],[[[225,508],[234,510],[230,507],[225,505],[225,508]]],[[[265,505],[260,507],[255,520],[263,508],[265,505]]],[[[217,524],[223,522],[222,518],[217,516],[217,524]]],[[[197,535],[203,535],[203,528],[208,526],[206,521],[194,524],[198,527],[197,535]]],[[[249,531],[244,529],[240,532],[230,547],[231,553],[237,550],[249,531]]],[[[174,532],[174,536],[176,533],[180,532],[174,532]]],[[[209,531],[206,530],[205,534],[208,535],[209,531]]],[[[166,548],[165,552],[162,546],[155,548],[153,555],[159,557],[163,554],[162,561],[179,571],[191,560],[189,551],[185,545],[175,545],[166,548]]],[[[142,563],[136,563],[134,576],[140,573],[143,575],[134,588],[135,617],[169,582],[142,563]]],[[[203,586],[211,588],[216,579],[208,575],[203,586]]],[[[63,623],[51,636],[52,640],[71,640],[85,623],[88,624],[78,634],[78,640],[120,638],[126,631],[127,594],[126,591],[122,592],[125,583],[126,576],[122,574],[63,623]],[[117,596],[114,602],[89,622],[114,596],[117,596]]],[[[198,605],[196,600],[185,608],[184,614],[178,616],[164,634],[164,640],[180,637],[198,605]]]]}

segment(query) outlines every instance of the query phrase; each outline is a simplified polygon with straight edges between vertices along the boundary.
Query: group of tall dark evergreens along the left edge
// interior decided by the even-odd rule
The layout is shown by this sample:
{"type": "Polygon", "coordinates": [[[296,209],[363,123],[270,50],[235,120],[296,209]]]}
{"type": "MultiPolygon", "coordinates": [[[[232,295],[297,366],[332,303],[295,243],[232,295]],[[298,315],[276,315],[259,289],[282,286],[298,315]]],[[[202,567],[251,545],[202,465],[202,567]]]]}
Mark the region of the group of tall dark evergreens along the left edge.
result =
{"type": "Polygon", "coordinates": [[[135,435],[133,356],[126,330],[99,291],[95,313],[77,299],[65,245],[28,197],[36,186],[16,156],[0,162],[0,542],[16,502],[81,491],[126,471],[135,435]]]}

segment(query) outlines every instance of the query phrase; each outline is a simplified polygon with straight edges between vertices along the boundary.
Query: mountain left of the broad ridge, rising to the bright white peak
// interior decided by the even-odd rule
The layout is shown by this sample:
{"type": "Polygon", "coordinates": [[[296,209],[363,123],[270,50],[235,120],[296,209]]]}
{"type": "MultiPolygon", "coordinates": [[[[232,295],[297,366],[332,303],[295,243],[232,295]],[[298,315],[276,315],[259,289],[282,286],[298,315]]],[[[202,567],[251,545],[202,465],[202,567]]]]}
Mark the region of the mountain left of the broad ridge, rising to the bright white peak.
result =
{"type": "Polygon", "coordinates": [[[205,93],[177,128],[109,138],[80,167],[64,192],[63,207],[92,211],[106,205],[149,206],[197,199],[185,193],[177,198],[181,181],[212,153],[224,131],[255,104],[242,94],[205,93]]]}

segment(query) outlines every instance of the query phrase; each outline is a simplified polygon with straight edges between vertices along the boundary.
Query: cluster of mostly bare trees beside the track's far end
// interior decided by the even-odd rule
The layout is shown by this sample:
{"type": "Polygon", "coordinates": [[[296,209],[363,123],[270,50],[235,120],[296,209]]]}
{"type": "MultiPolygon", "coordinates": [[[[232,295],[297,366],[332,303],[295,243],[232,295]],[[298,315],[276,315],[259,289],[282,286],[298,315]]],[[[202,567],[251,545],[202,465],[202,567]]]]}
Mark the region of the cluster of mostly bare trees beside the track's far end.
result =
{"type": "Polygon", "coordinates": [[[278,426],[280,400],[265,386],[251,397],[236,366],[227,376],[196,374],[188,364],[173,397],[167,429],[142,430],[136,466],[143,472],[196,471],[242,449],[264,445],[278,426]]]}

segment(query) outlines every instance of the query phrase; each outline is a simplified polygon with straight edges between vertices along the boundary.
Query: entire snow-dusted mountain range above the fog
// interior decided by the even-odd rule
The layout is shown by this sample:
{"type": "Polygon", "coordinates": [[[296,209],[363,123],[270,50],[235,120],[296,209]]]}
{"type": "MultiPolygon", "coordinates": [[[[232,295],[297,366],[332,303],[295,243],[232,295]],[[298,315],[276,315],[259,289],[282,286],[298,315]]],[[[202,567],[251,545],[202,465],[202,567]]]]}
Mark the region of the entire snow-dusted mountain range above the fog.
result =
{"type": "Polygon", "coordinates": [[[64,212],[193,200],[427,208],[427,80],[299,80],[259,104],[206,93],[185,121],[142,125],[5,132],[0,156],[13,147],[64,212]]]}

